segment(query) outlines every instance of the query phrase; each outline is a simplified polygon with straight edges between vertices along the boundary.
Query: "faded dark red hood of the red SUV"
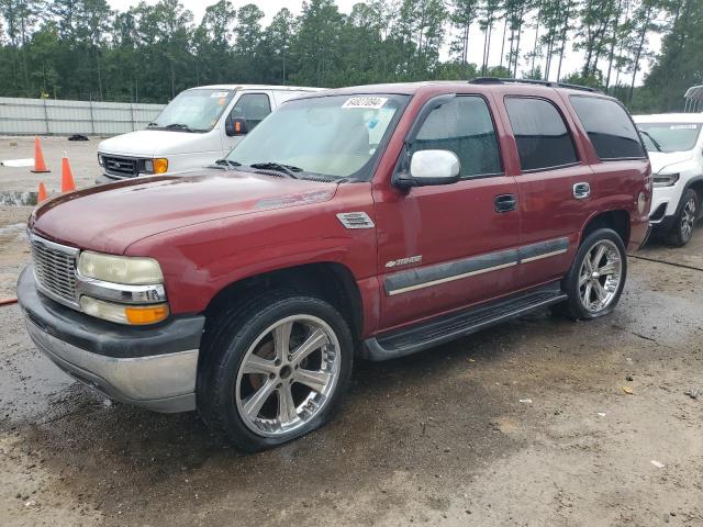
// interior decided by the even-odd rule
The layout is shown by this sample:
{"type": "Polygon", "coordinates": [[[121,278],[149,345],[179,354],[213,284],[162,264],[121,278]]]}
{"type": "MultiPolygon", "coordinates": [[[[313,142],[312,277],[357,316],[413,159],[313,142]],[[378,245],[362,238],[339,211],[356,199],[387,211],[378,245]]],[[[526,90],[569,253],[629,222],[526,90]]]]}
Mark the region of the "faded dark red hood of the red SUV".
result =
{"type": "Polygon", "coordinates": [[[328,201],[336,184],[212,169],[189,177],[153,177],[103,184],[46,201],[30,228],[57,243],[123,254],[165,231],[328,201]]]}

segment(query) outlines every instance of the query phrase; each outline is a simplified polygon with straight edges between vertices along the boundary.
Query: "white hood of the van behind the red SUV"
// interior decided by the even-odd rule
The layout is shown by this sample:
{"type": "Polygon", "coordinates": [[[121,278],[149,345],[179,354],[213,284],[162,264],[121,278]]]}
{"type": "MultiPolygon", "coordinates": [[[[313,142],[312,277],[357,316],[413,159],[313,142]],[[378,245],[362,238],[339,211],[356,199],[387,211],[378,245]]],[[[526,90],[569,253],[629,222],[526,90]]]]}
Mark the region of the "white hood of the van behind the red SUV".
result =
{"type": "Polygon", "coordinates": [[[158,157],[168,154],[212,152],[220,149],[220,138],[214,138],[216,144],[213,147],[212,134],[217,134],[217,130],[207,133],[140,130],[101,142],[98,145],[98,152],[130,157],[158,157]]]}

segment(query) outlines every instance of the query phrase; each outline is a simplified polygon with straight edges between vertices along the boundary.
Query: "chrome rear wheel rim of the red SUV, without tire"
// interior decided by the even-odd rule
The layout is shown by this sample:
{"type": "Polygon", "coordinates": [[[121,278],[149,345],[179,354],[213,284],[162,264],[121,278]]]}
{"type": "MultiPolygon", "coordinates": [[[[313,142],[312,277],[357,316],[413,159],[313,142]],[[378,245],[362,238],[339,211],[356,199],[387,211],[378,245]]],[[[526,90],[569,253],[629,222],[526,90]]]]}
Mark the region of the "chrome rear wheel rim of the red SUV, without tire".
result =
{"type": "Polygon", "coordinates": [[[606,309],[617,294],[623,260],[610,239],[598,242],[585,254],[579,271],[579,298],[589,313],[606,309]]]}

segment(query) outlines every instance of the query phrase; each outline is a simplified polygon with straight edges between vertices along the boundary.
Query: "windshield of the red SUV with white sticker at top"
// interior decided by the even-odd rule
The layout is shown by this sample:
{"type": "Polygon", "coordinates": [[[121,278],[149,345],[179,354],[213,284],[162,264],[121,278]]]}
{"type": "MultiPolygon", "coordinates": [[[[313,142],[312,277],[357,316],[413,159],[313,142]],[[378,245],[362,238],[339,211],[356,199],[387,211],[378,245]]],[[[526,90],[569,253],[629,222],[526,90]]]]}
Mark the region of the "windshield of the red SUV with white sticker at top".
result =
{"type": "Polygon", "coordinates": [[[406,96],[332,96],[289,101],[227,156],[244,166],[278,164],[330,178],[370,178],[372,160],[406,96]]]}

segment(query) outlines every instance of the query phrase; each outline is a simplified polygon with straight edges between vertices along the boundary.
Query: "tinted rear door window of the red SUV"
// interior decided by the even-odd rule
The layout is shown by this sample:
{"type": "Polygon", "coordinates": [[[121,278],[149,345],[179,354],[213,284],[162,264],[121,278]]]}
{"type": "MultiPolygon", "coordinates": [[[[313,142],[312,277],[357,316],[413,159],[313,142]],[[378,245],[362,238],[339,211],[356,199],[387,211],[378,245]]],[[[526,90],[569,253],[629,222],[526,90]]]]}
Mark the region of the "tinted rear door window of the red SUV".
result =
{"type": "Polygon", "coordinates": [[[510,97],[505,108],[523,170],[578,162],[571,135],[554,104],[543,99],[510,97]]]}

